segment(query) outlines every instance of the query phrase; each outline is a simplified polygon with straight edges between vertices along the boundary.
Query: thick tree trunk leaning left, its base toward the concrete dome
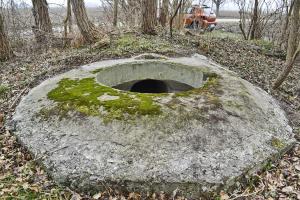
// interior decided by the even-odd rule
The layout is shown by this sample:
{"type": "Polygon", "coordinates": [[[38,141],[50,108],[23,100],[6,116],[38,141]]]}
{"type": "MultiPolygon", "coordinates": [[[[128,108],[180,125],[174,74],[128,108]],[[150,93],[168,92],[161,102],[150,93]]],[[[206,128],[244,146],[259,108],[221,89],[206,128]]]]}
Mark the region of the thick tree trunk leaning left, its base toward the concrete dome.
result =
{"type": "Polygon", "coordinates": [[[89,20],[84,5],[84,0],[71,0],[72,9],[76,18],[77,26],[84,40],[94,43],[103,38],[103,33],[89,20]]]}

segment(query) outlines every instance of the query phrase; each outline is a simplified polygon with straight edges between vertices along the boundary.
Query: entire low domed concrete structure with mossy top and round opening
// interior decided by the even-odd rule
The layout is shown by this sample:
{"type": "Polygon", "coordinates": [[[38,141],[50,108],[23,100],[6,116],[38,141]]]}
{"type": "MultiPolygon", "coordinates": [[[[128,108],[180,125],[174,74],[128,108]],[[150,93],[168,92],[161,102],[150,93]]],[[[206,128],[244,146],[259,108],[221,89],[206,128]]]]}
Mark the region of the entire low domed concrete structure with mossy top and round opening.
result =
{"type": "Polygon", "coordinates": [[[277,102],[203,56],[93,63],[22,99],[15,134],[79,190],[205,196],[295,142],[277,102]]]}

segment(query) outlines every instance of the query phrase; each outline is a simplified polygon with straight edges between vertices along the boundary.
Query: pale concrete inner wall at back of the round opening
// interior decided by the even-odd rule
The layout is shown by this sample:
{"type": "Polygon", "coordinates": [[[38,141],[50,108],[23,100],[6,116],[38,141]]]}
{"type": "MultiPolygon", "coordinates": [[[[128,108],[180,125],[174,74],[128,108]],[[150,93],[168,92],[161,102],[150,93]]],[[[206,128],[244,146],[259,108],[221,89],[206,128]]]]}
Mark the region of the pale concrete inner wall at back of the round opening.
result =
{"type": "Polygon", "coordinates": [[[187,68],[185,65],[163,61],[131,62],[112,65],[103,68],[96,75],[96,80],[100,84],[109,87],[145,79],[173,80],[193,88],[203,86],[206,81],[206,77],[200,70],[193,70],[192,67],[187,68]]]}

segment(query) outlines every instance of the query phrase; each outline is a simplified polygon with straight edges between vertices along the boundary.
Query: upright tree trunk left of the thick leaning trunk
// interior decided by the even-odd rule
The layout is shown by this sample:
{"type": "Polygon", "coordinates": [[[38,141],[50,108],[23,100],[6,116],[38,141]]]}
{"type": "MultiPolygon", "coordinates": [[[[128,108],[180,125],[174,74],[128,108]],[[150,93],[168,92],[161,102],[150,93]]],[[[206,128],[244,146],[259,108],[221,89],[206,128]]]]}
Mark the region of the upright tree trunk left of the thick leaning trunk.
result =
{"type": "Polygon", "coordinates": [[[32,0],[32,13],[35,21],[35,26],[32,28],[36,41],[38,43],[47,43],[49,36],[53,34],[47,1],[32,0]]]}

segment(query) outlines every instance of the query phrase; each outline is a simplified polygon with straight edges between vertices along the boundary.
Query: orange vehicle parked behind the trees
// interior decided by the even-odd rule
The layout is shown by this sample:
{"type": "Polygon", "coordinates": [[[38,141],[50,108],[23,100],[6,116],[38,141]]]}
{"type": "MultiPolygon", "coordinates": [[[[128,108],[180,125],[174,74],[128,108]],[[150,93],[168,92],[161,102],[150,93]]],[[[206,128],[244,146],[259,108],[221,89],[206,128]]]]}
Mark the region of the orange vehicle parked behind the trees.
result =
{"type": "Polygon", "coordinates": [[[217,25],[214,11],[206,5],[193,5],[184,15],[185,28],[213,31],[217,25]]]}

